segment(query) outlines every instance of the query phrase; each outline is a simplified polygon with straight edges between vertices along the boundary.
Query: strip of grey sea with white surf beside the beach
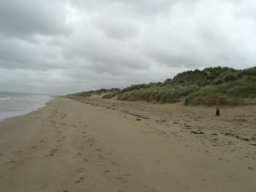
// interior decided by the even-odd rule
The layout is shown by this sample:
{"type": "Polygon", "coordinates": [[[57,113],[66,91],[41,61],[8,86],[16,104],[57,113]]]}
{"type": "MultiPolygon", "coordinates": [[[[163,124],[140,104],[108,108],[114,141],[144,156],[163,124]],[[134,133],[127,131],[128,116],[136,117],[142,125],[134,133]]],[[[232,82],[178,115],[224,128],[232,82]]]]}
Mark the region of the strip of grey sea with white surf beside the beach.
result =
{"type": "Polygon", "coordinates": [[[43,108],[53,96],[31,93],[0,92],[0,120],[43,108]]]}

